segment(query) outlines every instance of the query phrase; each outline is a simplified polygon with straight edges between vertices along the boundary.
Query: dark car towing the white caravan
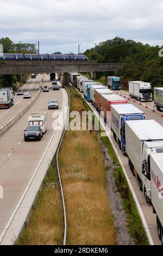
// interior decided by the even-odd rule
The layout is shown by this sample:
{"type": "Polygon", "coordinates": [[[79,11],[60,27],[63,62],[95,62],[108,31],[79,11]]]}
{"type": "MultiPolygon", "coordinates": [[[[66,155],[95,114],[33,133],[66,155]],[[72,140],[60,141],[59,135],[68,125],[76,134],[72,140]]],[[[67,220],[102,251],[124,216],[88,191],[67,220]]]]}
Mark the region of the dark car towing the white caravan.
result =
{"type": "Polygon", "coordinates": [[[42,129],[40,125],[28,125],[24,130],[24,141],[37,140],[41,141],[42,129]]]}

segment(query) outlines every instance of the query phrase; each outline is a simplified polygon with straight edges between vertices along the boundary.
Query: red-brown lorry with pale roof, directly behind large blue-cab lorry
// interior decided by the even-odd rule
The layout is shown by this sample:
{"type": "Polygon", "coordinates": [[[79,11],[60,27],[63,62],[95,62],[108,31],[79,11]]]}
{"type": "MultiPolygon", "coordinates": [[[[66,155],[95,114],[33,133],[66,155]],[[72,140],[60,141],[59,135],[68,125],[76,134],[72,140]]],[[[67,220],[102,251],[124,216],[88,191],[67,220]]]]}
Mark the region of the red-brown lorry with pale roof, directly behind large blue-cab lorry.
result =
{"type": "Polygon", "coordinates": [[[104,112],[104,119],[107,120],[107,112],[111,111],[112,104],[127,103],[126,99],[117,94],[102,94],[101,95],[101,110],[104,112]]]}

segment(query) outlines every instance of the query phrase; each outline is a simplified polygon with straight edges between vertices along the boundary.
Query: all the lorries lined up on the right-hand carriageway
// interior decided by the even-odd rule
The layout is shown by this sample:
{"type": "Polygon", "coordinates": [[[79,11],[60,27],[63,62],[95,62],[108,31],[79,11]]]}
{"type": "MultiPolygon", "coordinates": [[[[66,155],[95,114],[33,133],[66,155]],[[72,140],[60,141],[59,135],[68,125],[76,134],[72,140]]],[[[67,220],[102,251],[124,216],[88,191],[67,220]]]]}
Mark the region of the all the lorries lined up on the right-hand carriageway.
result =
{"type": "MultiPolygon", "coordinates": [[[[128,157],[140,190],[147,203],[153,205],[163,245],[163,127],[153,119],[146,119],[145,113],[114,92],[121,88],[120,78],[108,77],[107,81],[108,88],[84,76],[70,74],[72,85],[102,113],[120,150],[128,157]]],[[[140,101],[152,101],[150,83],[129,82],[129,95],[140,101]]],[[[154,102],[161,110],[163,88],[154,88],[154,95],[154,102]]]]}

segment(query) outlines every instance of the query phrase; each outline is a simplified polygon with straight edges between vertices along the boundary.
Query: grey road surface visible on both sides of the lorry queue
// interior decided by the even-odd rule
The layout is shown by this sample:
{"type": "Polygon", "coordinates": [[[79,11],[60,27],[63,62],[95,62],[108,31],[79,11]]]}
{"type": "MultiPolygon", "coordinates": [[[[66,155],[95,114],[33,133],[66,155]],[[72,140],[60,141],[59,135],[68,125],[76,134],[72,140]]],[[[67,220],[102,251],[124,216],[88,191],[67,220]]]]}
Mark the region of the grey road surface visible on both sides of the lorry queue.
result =
{"type": "MultiPolygon", "coordinates": [[[[121,93],[122,93],[122,95],[128,96],[127,92],[124,92],[124,91],[118,92],[119,95],[121,93]]],[[[128,100],[128,103],[131,103],[131,104],[135,105],[136,107],[141,109],[141,111],[145,112],[147,119],[154,119],[159,124],[161,124],[163,126],[163,117],[161,117],[161,113],[158,112],[158,111],[153,112],[154,102],[148,102],[147,103],[147,105],[149,106],[148,108],[146,108],[146,102],[141,102],[141,105],[139,105],[140,102],[138,102],[138,101],[134,102],[133,99],[130,99],[130,100],[128,100]]],[[[92,110],[98,116],[99,114],[96,111],[95,107],[93,107],[91,103],[88,103],[88,104],[90,105],[92,110]]],[[[158,237],[158,230],[157,230],[157,224],[156,224],[156,214],[153,214],[152,205],[149,205],[149,204],[146,203],[146,200],[143,197],[142,191],[139,190],[138,182],[137,182],[135,176],[133,176],[133,174],[130,171],[130,168],[129,168],[129,165],[128,165],[128,158],[126,156],[124,156],[122,151],[119,149],[118,143],[115,142],[114,137],[113,137],[112,132],[110,131],[109,127],[107,127],[106,130],[108,131],[108,133],[109,133],[109,135],[111,137],[111,143],[114,144],[114,146],[115,146],[115,148],[117,150],[118,156],[120,156],[120,159],[121,159],[121,162],[123,164],[123,167],[126,170],[128,178],[129,178],[129,180],[131,182],[131,185],[134,188],[136,197],[137,197],[137,199],[139,201],[139,204],[141,206],[143,215],[145,216],[145,220],[147,222],[149,231],[151,233],[153,243],[154,243],[154,245],[161,245],[161,242],[160,242],[159,237],[158,237]]]]}

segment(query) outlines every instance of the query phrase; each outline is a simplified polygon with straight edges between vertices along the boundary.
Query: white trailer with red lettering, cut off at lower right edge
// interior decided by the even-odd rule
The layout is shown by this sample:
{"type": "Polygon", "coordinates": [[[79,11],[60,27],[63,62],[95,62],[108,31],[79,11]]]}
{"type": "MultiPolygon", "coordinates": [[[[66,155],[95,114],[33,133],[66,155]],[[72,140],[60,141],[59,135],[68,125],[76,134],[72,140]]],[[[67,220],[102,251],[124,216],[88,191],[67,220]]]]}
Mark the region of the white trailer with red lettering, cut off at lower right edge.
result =
{"type": "Polygon", "coordinates": [[[151,197],[158,236],[163,245],[163,153],[151,154],[151,197]]]}

